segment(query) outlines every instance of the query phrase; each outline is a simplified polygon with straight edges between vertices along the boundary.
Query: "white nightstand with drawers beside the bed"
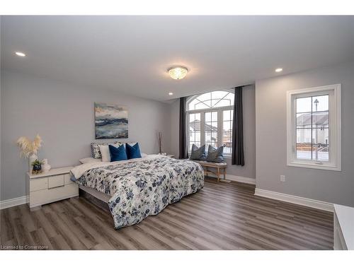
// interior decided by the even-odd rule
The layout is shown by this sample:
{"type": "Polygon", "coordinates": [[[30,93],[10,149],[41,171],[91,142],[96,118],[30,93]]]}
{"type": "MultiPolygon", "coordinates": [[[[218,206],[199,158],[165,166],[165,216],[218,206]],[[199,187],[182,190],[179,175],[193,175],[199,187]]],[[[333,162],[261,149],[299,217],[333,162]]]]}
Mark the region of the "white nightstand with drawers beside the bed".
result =
{"type": "Polygon", "coordinates": [[[58,167],[38,175],[26,174],[26,194],[31,210],[53,201],[79,196],[79,185],[70,180],[72,167],[58,167]]]}

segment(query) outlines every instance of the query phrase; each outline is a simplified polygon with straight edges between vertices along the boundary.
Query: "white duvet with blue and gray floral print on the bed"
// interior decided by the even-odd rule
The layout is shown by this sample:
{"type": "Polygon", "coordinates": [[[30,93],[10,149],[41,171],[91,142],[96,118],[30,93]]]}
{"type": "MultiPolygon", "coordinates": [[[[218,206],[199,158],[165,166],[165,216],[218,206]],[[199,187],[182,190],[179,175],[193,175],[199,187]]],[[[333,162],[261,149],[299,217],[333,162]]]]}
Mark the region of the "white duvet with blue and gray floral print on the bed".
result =
{"type": "Polygon", "coordinates": [[[154,216],[204,186],[204,172],[198,163],[166,155],[86,163],[74,167],[71,174],[78,184],[111,196],[108,206],[115,229],[154,216]]]}

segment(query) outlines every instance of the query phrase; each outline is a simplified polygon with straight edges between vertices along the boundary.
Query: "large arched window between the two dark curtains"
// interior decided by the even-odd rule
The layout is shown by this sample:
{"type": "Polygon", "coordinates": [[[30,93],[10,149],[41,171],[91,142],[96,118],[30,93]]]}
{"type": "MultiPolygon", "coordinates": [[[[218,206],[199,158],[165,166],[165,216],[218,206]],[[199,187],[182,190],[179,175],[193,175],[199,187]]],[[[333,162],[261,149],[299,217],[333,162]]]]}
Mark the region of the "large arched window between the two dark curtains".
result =
{"type": "Polygon", "coordinates": [[[195,95],[187,100],[188,152],[193,143],[215,148],[224,146],[224,155],[232,154],[232,117],[234,93],[218,90],[195,95]]]}

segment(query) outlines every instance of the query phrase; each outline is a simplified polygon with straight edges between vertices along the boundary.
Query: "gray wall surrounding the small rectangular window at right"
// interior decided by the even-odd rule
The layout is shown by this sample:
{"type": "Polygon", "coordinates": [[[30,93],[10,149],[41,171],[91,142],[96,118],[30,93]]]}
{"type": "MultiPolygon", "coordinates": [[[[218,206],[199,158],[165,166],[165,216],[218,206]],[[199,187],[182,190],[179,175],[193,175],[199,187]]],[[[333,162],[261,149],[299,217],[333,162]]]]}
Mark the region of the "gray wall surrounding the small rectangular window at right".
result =
{"type": "Polygon", "coordinates": [[[256,187],[354,206],[353,115],[354,63],[256,81],[256,187]],[[287,166],[286,91],[335,83],[341,83],[342,171],[287,166]]]}

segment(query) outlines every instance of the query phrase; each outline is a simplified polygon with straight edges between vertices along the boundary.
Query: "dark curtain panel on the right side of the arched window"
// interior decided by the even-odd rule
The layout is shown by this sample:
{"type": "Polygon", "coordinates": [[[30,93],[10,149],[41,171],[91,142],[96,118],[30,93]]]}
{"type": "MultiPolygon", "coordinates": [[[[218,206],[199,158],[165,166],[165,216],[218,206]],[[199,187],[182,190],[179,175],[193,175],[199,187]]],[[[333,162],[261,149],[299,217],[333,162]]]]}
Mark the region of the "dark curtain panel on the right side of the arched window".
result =
{"type": "Polygon", "coordinates": [[[232,124],[232,165],[244,165],[244,113],[242,87],[235,88],[234,122],[232,124]]]}

